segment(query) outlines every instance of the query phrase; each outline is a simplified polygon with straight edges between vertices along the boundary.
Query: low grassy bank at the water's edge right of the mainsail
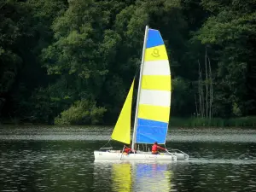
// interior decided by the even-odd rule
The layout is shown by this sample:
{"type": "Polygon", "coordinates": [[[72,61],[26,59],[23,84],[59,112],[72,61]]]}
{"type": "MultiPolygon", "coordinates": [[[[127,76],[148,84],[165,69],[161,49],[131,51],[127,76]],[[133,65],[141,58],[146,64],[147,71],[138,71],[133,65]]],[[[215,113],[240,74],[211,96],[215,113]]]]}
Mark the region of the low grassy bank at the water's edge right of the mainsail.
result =
{"type": "Polygon", "coordinates": [[[241,117],[232,119],[221,118],[179,118],[171,117],[170,127],[256,127],[256,117],[241,117]]]}

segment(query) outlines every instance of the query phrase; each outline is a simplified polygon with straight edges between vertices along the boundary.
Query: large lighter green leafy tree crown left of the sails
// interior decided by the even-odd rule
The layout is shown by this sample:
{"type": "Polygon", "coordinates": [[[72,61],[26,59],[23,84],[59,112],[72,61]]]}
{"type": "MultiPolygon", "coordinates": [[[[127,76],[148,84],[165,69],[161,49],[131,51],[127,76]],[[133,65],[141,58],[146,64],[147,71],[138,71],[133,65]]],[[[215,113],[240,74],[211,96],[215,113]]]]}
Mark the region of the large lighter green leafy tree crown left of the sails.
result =
{"type": "Polygon", "coordinates": [[[77,74],[82,79],[106,73],[102,56],[102,27],[109,12],[94,1],[71,2],[66,13],[53,25],[55,43],[43,50],[49,74],[77,74]]]}

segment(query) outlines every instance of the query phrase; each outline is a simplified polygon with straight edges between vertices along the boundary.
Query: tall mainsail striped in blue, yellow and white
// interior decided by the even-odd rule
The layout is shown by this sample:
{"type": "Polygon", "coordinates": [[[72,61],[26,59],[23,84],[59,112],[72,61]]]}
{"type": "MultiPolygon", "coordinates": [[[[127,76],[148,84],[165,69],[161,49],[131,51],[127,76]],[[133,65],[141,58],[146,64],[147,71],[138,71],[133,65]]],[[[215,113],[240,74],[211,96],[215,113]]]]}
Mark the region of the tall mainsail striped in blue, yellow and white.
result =
{"type": "Polygon", "coordinates": [[[170,106],[171,71],[160,32],[148,29],[141,90],[138,96],[134,143],[166,143],[170,106]]]}

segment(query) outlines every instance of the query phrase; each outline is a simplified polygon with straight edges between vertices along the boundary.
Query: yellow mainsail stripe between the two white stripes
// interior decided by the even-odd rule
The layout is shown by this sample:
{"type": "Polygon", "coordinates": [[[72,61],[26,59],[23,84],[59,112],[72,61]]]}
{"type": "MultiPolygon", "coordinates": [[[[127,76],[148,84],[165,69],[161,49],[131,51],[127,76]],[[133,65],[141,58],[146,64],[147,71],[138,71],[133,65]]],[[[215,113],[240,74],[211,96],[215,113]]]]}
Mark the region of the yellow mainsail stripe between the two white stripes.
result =
{"type": "Polygon", "coordinates": [[[142,89],[171,90],[171,75],[143,75],[142,89]]]}

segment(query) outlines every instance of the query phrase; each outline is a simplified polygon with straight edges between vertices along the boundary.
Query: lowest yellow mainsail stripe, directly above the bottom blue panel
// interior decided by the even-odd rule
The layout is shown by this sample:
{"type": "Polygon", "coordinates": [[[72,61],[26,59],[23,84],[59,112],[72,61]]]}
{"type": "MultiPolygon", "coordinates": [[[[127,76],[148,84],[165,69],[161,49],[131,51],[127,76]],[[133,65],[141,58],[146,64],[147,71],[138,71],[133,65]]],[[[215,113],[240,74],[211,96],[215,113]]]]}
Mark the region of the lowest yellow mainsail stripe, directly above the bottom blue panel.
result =
{"type": "Polygon", "coordinates": [[[138,118],[156,120],[168,123],[170,107],[160,107],[153,105],[139,105],[138,118]]]}

